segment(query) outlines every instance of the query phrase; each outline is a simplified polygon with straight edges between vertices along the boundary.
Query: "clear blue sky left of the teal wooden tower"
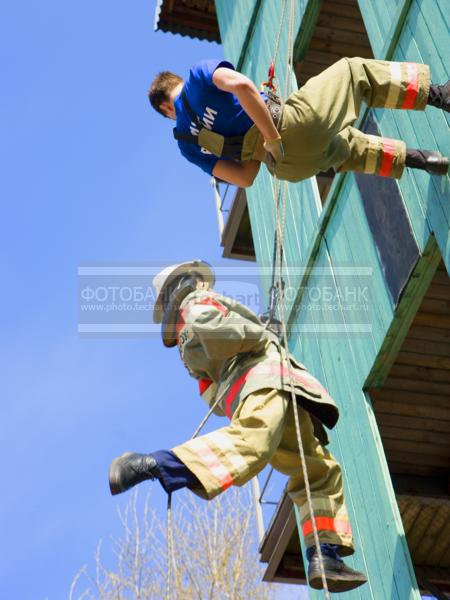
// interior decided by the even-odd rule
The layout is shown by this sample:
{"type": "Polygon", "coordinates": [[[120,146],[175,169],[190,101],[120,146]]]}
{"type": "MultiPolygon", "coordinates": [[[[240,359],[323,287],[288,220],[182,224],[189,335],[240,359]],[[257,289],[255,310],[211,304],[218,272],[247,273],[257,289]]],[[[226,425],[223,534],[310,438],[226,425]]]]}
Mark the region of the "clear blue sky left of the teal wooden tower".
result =
{"type": "MultiPolygon", "coordinates": [[[[221,259],[208,177],[146,90],[207,42],[153,32],[154,2],[7,3],[0,19],[3,272],[0,597],[60,600],[118,531],[107,469],[204,415],[176,350],[77,334],[77,268],[221,259]]],[[[165,496],[155,503],[163,511],[165,496]]]]}

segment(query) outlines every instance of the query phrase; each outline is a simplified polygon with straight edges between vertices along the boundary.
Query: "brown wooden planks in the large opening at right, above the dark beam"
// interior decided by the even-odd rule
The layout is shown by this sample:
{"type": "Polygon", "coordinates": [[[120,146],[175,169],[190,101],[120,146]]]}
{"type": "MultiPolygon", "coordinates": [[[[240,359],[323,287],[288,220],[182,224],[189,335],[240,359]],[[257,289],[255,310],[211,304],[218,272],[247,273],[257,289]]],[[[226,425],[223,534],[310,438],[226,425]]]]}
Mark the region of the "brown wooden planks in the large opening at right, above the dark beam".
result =
{"type": "Polygon", "coordinates": [[[443,264],[387,379],[370,396],[391,472],[417,469],[418,475],[443,478],[445,488],[450,473],[450,280],[443,264]]]}

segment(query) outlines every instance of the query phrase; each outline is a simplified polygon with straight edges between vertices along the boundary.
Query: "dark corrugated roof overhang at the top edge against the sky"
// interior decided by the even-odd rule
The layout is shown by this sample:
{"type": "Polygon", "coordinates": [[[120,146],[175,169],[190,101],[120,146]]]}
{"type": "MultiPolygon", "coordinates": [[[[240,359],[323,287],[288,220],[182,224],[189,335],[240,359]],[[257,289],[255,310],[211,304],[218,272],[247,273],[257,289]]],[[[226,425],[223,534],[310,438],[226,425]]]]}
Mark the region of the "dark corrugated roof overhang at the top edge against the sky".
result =
{"type": "Polygon", "coordinates": [[[156,0],[154,30],[220,43],[214,0],[156,0]]]}

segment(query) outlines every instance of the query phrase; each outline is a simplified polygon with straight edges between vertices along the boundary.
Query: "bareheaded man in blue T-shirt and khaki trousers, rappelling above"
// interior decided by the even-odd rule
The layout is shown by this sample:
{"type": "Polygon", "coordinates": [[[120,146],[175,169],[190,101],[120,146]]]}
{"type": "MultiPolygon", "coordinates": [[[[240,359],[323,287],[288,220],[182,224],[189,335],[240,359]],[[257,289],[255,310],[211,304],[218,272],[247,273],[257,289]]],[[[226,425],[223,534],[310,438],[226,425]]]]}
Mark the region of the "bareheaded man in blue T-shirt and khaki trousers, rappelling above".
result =
{"type": "Polygon", "coordinates": [[[250,186],[264,162],[278,179],[301,181],[320,171],[358,171],[399,178],[405,166],[446,175],[439,152],[353,127],[361,103],[369,107],[450,112],[450,81],[433,85],[427,65],[343,58],[312,77],[281,106],[258,92],[228,61],[204,60],[184,81],[159,73],[152,106],[176,121],[181,154],[208,174],[250,186]]]}

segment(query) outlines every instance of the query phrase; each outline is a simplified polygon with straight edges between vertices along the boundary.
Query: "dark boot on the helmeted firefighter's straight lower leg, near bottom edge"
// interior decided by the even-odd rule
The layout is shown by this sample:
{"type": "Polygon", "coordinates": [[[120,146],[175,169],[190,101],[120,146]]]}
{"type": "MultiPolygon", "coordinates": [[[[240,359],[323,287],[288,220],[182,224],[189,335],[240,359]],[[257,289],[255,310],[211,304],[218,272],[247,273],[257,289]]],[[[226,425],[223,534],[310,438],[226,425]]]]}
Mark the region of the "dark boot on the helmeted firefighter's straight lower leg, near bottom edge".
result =
{"type": "MultiPolygon", "coordinates": [[[[333,593],[348,592],[363,585],[367,581],[364,573],[355,571],[342,560],[336,560],[330,556],[322,555],[323,566],[325,569],[325,578],[328,584],[328,590],[333,593]]],[[[308,583],[315,590],[323,589],[322,577],[320,574],[319,557],[315,554],[308,567],[308,583]]]]}

